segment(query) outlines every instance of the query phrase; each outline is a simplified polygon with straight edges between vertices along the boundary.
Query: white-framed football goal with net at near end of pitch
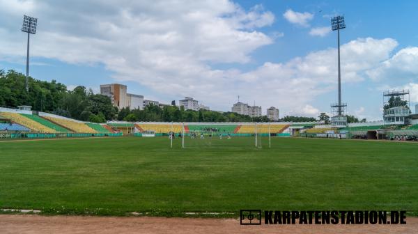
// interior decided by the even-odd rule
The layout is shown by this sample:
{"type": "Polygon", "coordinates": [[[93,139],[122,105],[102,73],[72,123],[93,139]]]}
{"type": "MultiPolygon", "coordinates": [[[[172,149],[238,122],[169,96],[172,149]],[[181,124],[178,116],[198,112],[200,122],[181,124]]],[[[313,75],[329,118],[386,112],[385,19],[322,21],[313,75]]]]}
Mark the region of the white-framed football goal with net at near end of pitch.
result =
{"type": "Polygon", "coordinates": [[[183,148],[269,147],[268,123],[183,123],[183,148]],[[264,146],[266,147],[266,146],[264,146]]]}

